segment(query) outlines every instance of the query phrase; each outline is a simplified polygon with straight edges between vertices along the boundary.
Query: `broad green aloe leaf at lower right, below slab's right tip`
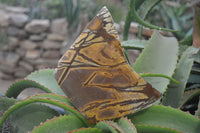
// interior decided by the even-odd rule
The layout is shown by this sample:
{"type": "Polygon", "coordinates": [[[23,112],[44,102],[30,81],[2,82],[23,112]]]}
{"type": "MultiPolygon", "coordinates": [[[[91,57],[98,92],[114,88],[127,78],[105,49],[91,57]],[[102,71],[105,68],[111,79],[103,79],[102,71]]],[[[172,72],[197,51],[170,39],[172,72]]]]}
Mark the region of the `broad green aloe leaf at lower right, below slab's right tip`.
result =
{"type": "Polygon", "coordinates": [[[152,105],[150,108],[128,116],[133,124],[166,127],[183,133],[198,133],[200,120],[189,113],[162,105],[152,105]]]}

